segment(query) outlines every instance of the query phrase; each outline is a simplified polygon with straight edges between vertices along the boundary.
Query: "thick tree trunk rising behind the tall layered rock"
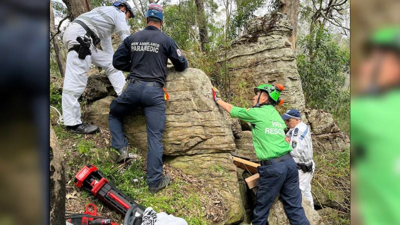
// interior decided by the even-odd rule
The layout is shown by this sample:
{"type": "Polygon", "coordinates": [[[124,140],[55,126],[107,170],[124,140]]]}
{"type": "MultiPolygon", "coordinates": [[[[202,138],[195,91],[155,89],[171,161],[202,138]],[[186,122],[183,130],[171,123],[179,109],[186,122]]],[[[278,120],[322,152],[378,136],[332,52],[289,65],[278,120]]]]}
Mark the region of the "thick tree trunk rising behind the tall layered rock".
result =
{"type": "Polygon", "coordinates": [[[299,0],[280,0],[279,11],[289,17],[290,23],[293,26],[291,32],[290,42],[293,51],[296,50],[296,33],[297,33],[297,20],[298,20],[298,5],[299,0]]]}

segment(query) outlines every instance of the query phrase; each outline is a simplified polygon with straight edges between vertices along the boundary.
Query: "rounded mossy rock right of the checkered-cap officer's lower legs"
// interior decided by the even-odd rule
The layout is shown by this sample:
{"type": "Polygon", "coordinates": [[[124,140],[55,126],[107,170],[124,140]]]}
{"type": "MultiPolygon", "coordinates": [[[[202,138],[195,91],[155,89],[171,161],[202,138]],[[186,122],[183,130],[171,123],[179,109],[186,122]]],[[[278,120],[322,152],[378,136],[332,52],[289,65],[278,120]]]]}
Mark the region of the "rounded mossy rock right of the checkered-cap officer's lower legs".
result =
{"type": "Polygon", "coordinates": [[[344,194],[324,176],[315,176],[311,181],[312,198],[315,205],[336,207],[344,202],[344,194]],[[317,181],[316,181],[317,180],[317,181]]]}

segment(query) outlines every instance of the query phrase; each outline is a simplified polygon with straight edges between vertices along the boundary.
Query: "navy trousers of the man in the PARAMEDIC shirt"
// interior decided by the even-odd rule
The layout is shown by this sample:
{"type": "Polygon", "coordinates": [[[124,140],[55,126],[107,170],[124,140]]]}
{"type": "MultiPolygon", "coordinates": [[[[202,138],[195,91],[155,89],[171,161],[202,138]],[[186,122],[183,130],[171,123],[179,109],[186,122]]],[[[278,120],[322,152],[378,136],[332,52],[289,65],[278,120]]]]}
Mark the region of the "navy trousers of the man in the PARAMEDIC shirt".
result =
{"type": "Polygon", "coordinates": [[[126,89],[109,105],[108,123],[113,148],[128,144],[123,133],[123,116],[141,106],[146,116],[147,131],[147,185],[156,187],[162,172],[162,132],[165,125],[164,91],[158,86],[147,86],[147,82],[129,83],[126,89]]]}

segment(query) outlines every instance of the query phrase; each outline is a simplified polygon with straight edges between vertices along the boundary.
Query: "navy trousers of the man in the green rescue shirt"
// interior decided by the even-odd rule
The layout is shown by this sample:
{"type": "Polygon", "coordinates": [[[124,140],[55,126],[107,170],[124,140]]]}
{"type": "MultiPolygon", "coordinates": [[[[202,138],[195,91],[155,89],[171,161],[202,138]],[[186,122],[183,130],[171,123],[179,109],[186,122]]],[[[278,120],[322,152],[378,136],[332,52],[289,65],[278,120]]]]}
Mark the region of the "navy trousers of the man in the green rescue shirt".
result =
{"type": "Polygon", "coordinates": [[[284,211],[291,224],[309,224],[301,206],[301,191],[298,184],[297,165],[293,158],[275,164],[258,167],[258,190],[253,210],[252,225],[265,225],[269,208],[278,193],[282,197],[284,211]]]}

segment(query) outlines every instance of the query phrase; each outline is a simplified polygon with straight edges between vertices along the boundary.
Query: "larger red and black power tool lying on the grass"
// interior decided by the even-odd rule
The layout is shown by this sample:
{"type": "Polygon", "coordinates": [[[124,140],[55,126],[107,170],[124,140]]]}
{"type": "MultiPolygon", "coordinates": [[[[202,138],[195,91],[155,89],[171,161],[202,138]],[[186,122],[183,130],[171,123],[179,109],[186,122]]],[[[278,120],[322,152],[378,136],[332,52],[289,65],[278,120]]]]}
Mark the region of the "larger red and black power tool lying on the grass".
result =
{"type": "Polygon", "coordinates": [[[114,185],[108,182],[93,164],[85,165],[75,175],[73,181],[79,188],[84,188],[91,192],[98,199],[104,201],[116,212],[126,215],[129,208],[133,208],[135,216],[142,215],[144,207],[137,204],[134,200],[126,196],[114,185]]]}

